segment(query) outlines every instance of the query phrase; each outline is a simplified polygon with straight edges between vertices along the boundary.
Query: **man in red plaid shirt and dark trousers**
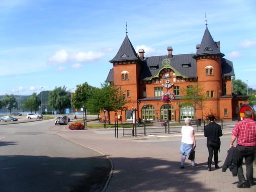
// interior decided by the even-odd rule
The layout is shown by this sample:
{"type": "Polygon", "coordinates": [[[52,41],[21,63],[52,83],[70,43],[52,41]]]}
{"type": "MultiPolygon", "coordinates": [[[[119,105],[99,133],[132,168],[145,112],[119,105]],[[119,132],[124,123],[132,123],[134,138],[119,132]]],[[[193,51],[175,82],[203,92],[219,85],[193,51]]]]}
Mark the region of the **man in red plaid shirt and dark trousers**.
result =
{"type": "Polygon", "coordinates": [[[246,183],[242,169],[243,158],[245,159],[246,178],[250,186],[254,184],[252,163],[256,149],[256,122],[252,120],[251,110],[244,110],[244,118],[244,120],[237,122],[235,125],[230,140],[231,148],[235,147],[233,143],[237,139],[236,149],[239,156],[237,170],[239,182],[237,187],[242,187],[246,183]]]}

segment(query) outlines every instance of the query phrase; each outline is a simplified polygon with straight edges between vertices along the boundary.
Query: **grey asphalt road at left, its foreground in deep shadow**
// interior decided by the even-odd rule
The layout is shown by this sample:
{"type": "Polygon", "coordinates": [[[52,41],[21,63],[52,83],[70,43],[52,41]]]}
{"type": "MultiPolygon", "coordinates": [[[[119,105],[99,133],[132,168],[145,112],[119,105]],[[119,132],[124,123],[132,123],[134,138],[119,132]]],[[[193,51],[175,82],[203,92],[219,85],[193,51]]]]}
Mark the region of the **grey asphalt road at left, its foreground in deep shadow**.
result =
{"type": "Polygon", "coordinates": [[[53,120],[1,124],[0,191],[101,191],[110,162],[58,136],[64,127],[53,120]]]}

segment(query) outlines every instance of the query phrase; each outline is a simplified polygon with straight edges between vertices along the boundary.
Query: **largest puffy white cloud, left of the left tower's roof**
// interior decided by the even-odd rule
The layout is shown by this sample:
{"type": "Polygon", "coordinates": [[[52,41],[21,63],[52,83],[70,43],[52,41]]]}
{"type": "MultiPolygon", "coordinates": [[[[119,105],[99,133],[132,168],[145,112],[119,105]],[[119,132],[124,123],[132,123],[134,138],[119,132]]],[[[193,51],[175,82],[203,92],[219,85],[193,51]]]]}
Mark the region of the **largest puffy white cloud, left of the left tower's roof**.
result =
{"type": "Polygon", "coordinates": [[[48,65],[57,65],[57,64],[63,64],[68,63],[71,61],[76,62],[92,62],[95,60],[98,60],[102,57],[105,57],[105,53],[102,52],[78,52],[78,53],[67,53],[65,49],[61,49],[59,51],[56,51],[54,55],[50,56],[48,58],[48,65]]]}

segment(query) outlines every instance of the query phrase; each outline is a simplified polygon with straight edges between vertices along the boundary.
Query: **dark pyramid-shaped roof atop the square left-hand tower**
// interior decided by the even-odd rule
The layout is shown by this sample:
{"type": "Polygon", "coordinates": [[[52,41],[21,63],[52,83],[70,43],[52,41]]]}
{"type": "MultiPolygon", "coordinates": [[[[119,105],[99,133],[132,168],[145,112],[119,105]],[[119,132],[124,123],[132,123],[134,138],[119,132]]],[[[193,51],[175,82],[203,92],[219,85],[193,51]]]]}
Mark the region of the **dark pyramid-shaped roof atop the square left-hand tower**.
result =
{"type": "Polygon", "coordinates": [[[116,56],[110,60],[109,62],[113,63],[115,61],[123,61],[123,60],[140,60],[138,57],[135,49],[133,48],[128,35],[126,34],[125,39],[119,48],[119,51],[117,52],[116,56]]]}

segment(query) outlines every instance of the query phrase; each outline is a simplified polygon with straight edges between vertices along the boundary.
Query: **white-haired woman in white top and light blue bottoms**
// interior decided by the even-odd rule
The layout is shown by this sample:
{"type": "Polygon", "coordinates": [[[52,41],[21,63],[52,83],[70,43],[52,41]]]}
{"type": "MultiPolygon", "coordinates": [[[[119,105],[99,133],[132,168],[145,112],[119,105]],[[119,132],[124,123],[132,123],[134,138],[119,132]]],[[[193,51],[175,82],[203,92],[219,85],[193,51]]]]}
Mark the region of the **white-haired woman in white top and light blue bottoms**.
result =
{"type": "MultiPolygon", "coordinates": [[[[186,160],[187,155],[190,154],[192,147],[196,147],[196,139],[194,134],[194,128],[191,127],[191,120],[190,118],[185,119],[186,126],[182,127],[182,144],[181,144],[181,151],[182,160],[181,160],[181,168],[184,168],[184,162],[186,160]]],[[[192,166],[196,167],[197,163],[195,160],[192,161],[192,166]]]]}

